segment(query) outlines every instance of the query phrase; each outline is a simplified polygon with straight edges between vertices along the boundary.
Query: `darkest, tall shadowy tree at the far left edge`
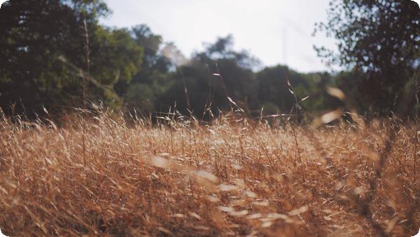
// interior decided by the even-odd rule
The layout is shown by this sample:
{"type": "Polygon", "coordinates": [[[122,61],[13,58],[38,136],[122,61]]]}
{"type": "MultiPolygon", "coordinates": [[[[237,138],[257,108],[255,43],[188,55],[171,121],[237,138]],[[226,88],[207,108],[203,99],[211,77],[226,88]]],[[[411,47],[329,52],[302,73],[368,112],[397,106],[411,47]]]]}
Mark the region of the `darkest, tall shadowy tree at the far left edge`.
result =
{"type": "MultiPolygon", "coordinates": [[[[6,1],[0,9],[0,106],[10,102],[22,113],[21,104],[41,109],[62,88],[64,70],[53,57],[71,32],[69,6],[60,1],[6,1]],[[52,70],[43,70],[54,67],[52,70]]],[[[6,110],[7,111],[7,110],[6,110]]],[[[29,110],[29,112],[31,112],[29,110]]]]}

